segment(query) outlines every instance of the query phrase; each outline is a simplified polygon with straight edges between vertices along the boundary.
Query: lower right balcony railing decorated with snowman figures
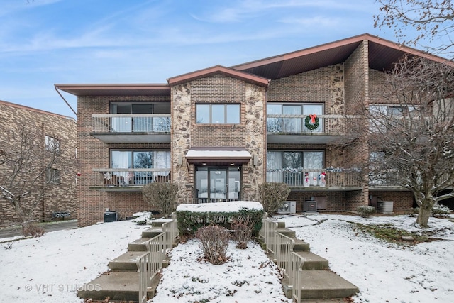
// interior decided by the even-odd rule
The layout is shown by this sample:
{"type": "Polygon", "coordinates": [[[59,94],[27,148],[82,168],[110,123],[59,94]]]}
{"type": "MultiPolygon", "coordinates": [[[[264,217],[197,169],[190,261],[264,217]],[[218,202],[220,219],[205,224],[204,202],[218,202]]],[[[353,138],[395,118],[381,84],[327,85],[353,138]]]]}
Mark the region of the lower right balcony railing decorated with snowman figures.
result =
{"type": "Polygon", "coordinates": [[[349,191],[362,189],[361,173],[343,169],[284,168],[267,170],[267,182],[284,182],[292,190],[301,191],[349,191]]]}

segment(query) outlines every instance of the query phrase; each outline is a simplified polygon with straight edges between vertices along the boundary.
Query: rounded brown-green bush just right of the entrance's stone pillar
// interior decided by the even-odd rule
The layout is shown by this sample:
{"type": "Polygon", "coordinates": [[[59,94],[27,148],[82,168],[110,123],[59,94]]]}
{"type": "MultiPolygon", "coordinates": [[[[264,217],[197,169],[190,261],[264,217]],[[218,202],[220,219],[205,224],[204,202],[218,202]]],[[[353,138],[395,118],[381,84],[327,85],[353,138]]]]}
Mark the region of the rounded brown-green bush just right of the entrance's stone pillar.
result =
{"type": "Polygon", "coordinates": [[[263,210],[275,214],[290,194],[289,185],[282,182],[264,182],[258,186],[258,195],[263,210]]]}

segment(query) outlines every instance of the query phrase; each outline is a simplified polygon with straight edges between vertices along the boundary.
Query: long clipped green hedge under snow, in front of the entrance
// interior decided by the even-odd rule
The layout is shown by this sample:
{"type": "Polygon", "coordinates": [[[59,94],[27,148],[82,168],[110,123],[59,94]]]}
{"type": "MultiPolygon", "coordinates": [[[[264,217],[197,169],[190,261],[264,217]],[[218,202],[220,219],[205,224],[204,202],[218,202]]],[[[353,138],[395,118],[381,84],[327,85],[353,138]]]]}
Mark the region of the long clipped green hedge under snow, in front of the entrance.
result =
{"type": "Polygon", "coordinates": [[[257,236],[262,228],[263,211],[260,209],[240,209],[233,212],[195,212],[177,211],[178,229],[182,234],[195,234],[196,231],[211,224],[232,229],[234,221],[250,221],[253,235],[257,236]]]}

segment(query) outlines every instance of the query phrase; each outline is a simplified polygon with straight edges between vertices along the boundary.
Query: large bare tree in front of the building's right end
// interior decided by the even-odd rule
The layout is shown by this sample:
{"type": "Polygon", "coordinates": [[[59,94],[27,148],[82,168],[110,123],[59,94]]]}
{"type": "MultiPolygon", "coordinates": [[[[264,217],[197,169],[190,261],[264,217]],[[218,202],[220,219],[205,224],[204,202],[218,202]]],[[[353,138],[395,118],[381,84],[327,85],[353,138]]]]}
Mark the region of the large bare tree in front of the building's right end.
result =
{"type": "Polygon", "coordinates": [[[421,227],[434,204],[454,197],[453,92],[452,65],[404,57],[371,92],[375,104],[361,109],[367,123],[356,128],[369,146],[370,185],[411,190],[421,227]]]}

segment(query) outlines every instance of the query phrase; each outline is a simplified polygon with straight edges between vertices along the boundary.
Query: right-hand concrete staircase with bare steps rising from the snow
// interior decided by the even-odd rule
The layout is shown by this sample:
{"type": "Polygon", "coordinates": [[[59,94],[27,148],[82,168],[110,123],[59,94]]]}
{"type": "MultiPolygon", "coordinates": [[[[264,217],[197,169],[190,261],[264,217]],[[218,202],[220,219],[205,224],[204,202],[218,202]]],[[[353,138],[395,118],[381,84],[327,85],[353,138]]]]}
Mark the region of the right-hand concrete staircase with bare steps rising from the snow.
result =
{"type": "MultiPolygon", "coordinates": [[[[278,222],[279,233],[294,238],[294,253],[304,258],[301,272],[301,302],[344,302],[344,298],[359,292],[358,287],[339,277],[328,269],[328,260],[310,252],[309,243],[295,237],[295,232],[285,227],[284,222],[278,222]]],[[[273,256],[270,255],[273,259],[273,256]]],[[[288,287],[287,277],[282,280],[282,287],[288,298],[292,297],[292,289],[288,287]]]]}

